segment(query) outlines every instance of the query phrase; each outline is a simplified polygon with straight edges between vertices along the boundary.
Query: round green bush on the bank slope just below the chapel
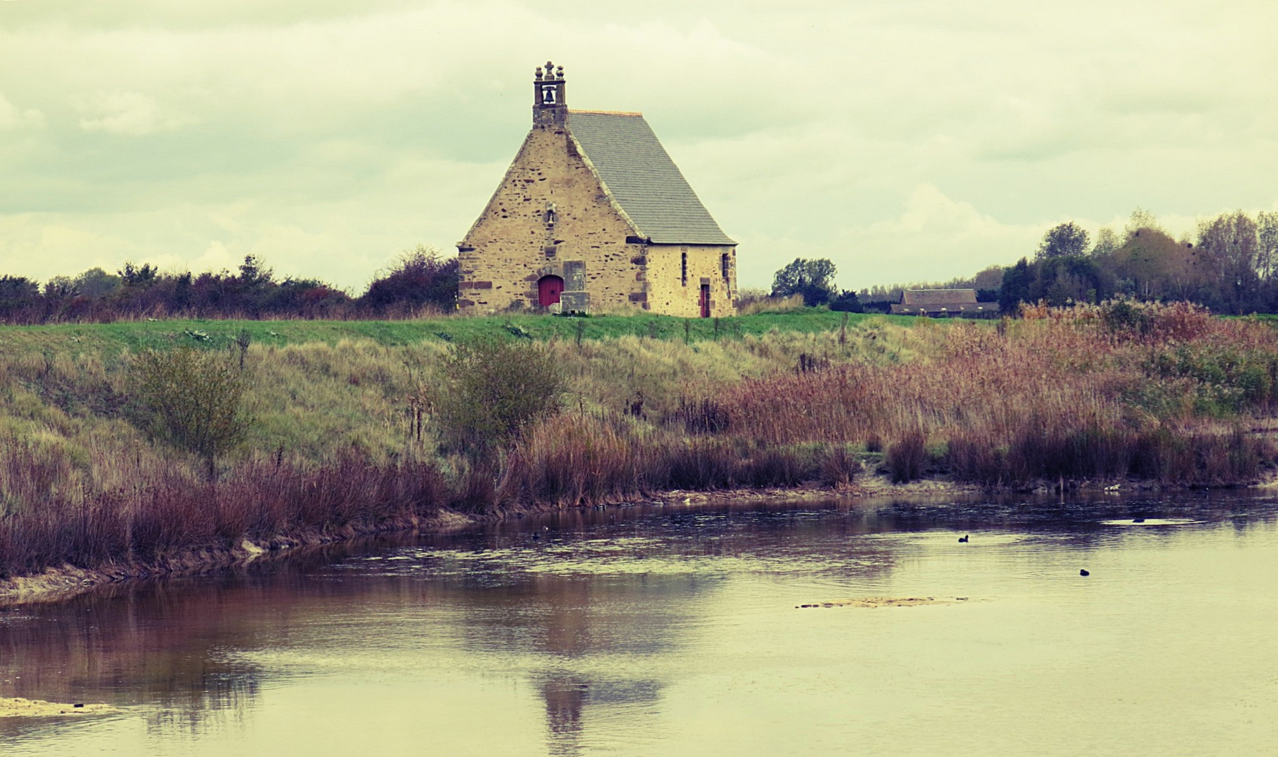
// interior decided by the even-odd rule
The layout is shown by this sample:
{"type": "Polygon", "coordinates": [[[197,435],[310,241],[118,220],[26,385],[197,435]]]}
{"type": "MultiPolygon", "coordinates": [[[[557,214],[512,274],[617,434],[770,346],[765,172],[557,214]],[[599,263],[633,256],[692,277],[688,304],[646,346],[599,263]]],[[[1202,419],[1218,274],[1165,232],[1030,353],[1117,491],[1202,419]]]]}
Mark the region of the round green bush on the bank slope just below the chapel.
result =
{"type": "Polygon", "coordinates": [[[550,349],[529,340],[477,338],[443,358],[436,418],[443,445],[484,457],[558,409],[564,376],[550,349]]]}

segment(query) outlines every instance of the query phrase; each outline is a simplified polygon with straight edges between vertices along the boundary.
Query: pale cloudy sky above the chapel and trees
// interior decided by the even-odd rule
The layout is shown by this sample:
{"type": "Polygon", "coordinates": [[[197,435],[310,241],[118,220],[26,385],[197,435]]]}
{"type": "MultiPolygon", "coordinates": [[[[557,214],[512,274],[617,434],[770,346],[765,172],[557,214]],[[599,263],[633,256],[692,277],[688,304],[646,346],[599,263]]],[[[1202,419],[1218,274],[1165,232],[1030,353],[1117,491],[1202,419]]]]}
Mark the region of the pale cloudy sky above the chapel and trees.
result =
{"type": "Polygon", "coordinates": [[[1278,207],[1278,3],[0,0],[0,274],[362,290],[452,252],[530,123],[640,110],[743,285],[943,280],[1136,206],[1278,207]]]}

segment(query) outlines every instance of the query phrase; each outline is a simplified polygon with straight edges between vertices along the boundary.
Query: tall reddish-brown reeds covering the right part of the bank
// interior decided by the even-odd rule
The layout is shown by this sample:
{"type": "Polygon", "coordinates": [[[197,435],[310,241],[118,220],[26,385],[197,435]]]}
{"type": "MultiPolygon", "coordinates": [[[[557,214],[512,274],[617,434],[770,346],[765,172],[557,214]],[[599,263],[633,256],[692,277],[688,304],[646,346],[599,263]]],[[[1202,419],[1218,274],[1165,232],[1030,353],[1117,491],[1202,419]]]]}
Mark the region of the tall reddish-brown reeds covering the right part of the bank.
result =
{"type": "Polygon", "coordinates": [[[734,433],[774,444],[884,440],[898,481],[921,473],[929,441],[950,473],[988,483],[1254,477],[1266,445],[1229,418],[1272,410],[1274,334],[1190,306],[1141,315],[1137,327],[1100,308],[955,325],[928,359],[748,380],[720,404],[734,433]]]}

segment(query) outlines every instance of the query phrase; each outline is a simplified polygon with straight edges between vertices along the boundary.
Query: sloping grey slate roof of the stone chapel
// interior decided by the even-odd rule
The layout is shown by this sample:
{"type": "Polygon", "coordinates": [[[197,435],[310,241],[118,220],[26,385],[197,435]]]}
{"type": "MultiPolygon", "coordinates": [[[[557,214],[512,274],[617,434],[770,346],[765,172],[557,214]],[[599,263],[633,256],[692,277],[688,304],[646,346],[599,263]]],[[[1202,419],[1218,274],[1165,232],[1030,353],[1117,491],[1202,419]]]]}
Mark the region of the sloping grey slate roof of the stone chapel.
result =
{"type": "Polygon", "coordinates": [[[570,110],[567,130],[640,237],[659,244],[736,244],[642,114],[570,110]]]}

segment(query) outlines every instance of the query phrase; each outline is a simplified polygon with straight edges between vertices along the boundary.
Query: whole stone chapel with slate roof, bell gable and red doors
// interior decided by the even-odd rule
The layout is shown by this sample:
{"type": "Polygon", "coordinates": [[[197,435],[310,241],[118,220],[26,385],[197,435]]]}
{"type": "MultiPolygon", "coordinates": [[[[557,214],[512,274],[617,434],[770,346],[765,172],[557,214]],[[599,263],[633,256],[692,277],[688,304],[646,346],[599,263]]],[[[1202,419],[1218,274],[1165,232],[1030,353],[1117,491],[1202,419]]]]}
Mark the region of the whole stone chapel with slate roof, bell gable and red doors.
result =
{"type": "Polygon", "coordinates": [[[533,128],[465,239],[464,313],[736,312],[736,242],[638,113],[569,110],[533,78],[533,128]]]}

